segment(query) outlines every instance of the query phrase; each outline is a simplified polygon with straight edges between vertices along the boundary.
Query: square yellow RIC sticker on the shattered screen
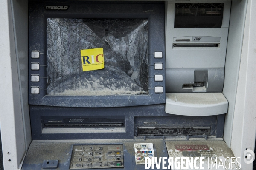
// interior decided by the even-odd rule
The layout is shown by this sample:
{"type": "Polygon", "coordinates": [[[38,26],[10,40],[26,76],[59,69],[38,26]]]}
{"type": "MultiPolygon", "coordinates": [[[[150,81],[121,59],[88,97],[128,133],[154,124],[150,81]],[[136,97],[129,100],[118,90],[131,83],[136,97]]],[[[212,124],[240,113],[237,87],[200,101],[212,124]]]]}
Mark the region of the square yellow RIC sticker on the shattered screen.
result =
{"type": "Polygon", "coordinates": [[[99,70],[104,68],[103,48],[81,50],[83,71],[99,70]]]}

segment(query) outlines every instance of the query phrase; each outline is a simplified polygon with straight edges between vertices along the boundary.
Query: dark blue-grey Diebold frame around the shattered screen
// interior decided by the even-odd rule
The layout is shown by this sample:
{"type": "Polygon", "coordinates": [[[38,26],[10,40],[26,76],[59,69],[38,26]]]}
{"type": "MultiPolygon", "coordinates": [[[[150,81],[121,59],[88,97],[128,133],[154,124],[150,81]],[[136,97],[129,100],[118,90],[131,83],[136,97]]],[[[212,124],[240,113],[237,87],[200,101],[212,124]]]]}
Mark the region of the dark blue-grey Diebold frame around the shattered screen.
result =
{"type": "Polygon", "coordinates": [[[165,103],[165,36],[164,3],[30,3],[29,4],[29,104],[64,107],[125,107],[165,103]],[[67,10],[46,10],[45,6],[68,6],[67,10]],[[47,95],[47,18],[138,18],[148,19],[148,93],[140,95],[57,96],[47,95]],[[39,58],[31,58],[31,51],[40,51],[39,58]],[[163,58],[154,58],[161,51],[163,58]],[[39,70],[31,70],[31,63],[40,63],[39,70]],[[154,63],[163,63],[163,70],[154,70],[154,63]],[[31,75],[40,75],[39,82],[31,82],[31,75]],[[154,75],[163,75],[155,82],[154,75]],[[162,86],[163,93],[154,87],[162,86]],[[31,87],[40,87],[39,94],[31,94],[31,87]]]}

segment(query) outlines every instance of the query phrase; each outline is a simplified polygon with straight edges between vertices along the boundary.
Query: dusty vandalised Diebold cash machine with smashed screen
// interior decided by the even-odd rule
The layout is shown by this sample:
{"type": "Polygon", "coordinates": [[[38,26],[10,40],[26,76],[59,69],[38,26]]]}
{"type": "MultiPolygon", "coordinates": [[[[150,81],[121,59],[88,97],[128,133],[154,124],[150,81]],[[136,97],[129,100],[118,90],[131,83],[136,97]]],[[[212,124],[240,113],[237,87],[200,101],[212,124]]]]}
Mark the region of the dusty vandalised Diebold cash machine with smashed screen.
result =
{"type": "Polygon", "coordinates": [[[147,157],[178,156],[240,168],[223,140],[238,2],[29,0],[32,142],[20,169],[143,170],[147,157]],[[83,70],[94,62],[104,68],[83,70]]]}

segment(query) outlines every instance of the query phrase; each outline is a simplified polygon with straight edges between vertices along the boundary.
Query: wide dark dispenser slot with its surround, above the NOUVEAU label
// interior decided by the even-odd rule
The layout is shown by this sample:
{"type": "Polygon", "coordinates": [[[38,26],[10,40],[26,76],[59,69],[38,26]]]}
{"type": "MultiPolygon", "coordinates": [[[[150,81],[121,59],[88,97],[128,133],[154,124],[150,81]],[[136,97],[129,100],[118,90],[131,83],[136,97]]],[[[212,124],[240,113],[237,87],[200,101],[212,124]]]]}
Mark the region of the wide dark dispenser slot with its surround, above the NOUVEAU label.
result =
{"type": "Polygon", "coordinates": [[[136,117],[135,136],[215,136],[218,116],[136,117]]]}

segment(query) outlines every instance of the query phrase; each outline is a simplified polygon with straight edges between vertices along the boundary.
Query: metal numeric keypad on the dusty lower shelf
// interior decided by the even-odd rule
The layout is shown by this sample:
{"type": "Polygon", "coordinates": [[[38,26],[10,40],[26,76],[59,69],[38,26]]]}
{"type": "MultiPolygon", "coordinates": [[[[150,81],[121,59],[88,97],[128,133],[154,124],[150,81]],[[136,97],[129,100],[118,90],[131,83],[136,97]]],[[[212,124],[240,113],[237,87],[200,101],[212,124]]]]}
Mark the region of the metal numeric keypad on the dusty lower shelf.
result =
{"type": "Polygon", "coordinates": [[[123,145],[74,145],[70,169],[124,167],[123,145]]]}

